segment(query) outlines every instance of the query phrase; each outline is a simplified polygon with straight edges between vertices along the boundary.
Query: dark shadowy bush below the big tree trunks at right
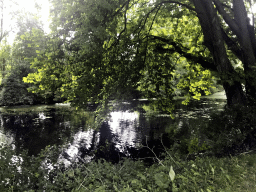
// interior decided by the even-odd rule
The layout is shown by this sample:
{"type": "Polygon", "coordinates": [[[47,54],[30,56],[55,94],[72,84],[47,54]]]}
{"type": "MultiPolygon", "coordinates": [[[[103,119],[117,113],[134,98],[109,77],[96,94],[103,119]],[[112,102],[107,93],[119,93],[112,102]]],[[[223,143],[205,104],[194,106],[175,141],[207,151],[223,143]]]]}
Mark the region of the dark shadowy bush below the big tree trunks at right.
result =
{"type": "Polygon", "coordinates": [[[226,107],[204,129],[215,154],[235,154],[256,145],[256,111],[250,106],[226,107]]]}

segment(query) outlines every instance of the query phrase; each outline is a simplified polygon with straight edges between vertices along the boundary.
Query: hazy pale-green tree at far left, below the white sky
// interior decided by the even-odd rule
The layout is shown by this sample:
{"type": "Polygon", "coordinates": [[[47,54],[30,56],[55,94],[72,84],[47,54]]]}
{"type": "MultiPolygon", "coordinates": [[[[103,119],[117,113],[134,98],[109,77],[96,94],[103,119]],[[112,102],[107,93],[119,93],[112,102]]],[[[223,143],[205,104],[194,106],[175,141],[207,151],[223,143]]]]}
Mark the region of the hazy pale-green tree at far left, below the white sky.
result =
{"type": "MultiPolygon", "coordinates": [[[[17,21],[18,32],[13,46],[2,47],[0,58],[5,61],[2,68],[2,83],[0,91],[0,105],[37,104],[48,102],[42,95],[29,93],[27,89],[33,84],[22,81],[28,73],[34,72],[30,63],[37,54],[45,49],[46,41],[42,24],[31,13],[20,14],[17,21]],[[6,67],[6,68],[4,68],[6,67]],[[19,94],[15,94],[19,93],[19,94]]],[[[45,96],[45,95],[44,95],[45,96]]]]}

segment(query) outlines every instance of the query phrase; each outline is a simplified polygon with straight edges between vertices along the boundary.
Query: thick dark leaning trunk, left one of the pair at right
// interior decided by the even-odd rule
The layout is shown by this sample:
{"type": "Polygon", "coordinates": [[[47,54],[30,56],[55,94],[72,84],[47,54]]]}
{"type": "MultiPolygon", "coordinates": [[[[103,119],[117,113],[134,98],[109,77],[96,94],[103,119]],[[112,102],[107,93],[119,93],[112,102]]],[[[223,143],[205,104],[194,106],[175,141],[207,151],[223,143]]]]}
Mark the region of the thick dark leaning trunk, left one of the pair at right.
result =
{"type": "Polygon", "coordinates": [[[212,1],[193,0],[193,3],[203,30],[204,43],[212,53],[214,64],[223,82],[227,95],[227,104],[229,106],[245,105],[246,99],[242,85],[234,78],[236,77],[236,72],[228,59],[220,21],[212,1]]]}

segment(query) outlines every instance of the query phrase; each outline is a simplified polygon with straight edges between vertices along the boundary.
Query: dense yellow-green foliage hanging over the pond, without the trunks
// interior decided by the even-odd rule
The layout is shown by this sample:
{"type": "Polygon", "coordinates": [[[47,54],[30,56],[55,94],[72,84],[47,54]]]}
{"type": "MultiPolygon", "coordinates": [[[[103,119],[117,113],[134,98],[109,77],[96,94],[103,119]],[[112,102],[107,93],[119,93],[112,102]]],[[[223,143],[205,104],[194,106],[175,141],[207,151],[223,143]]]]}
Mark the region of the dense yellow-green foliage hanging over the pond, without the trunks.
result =
{"type": "Polygon", "coordinates": [[[55,33],[48,49],[32,63],[38,71],[24,79],[38,84],[35,91],[59,90],[81,105],[127,99],[138,90],[170,109],[180,90],[196,99],[210,93],[211,72],[175,53],[166,39],[175,38],[184,53],[203,54],[209,60],[198,19],[188,11],[181,14],[173,5],[167,10],[146,6],[146,1],[52,3],[55,33]]]}

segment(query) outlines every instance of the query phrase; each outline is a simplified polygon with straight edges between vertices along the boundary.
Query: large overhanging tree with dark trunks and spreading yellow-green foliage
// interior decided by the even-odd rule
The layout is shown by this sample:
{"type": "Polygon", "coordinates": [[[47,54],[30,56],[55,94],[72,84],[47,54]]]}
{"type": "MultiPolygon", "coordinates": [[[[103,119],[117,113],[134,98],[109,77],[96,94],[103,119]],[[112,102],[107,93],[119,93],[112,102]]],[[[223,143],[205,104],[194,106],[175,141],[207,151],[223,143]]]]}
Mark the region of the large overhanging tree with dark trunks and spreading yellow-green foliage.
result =
{"type": "Polygon", "coordinates": [[[122,98],[139,89],[168,105],[177,65],[183,65],[178,85],[189,88],[188,98],[208,94],[212,74],[221,80],[229,106],[247,105],[256,96],[252,1],[51,2],[55,50],[49,47],[34,63],[38,72],[25,79],[42,89],[52,87],[54,78],[54,86],[58,82],[75,103],[122,98]]]}

